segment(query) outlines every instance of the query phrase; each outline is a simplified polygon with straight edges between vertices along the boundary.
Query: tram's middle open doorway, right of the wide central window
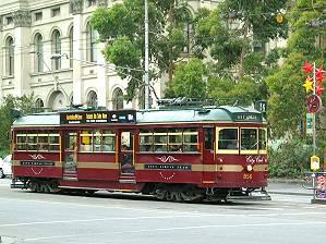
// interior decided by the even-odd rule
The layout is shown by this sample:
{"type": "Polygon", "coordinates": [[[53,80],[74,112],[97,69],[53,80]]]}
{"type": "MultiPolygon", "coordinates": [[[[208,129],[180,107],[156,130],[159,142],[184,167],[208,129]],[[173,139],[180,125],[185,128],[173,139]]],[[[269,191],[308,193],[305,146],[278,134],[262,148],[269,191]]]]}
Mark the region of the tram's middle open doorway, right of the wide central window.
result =
{"type": "Polygon", "coordinates": [[[134,136],[133,131],[121,131],[119,138],[119,166],[120,174],[122,176],[131,175],[135,173],[134,166],[134,136]]]}

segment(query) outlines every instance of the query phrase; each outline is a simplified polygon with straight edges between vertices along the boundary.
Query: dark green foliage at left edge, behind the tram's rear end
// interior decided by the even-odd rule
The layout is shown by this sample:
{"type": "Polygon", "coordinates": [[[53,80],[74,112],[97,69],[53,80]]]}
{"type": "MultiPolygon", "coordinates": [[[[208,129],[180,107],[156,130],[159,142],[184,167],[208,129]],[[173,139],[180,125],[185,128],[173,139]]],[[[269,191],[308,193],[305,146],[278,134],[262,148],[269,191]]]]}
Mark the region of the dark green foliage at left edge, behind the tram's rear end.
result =
{"type": "Polygon", "coordinates": [[[0,107],[0,155],[8,155],[10,151],[10,127],[14,121],[11,117],[12,109],[20,109],[22,114],[33,111],[34,95],[24,95],[23,97],[14,97],[9,95],[3,98],[0,107]]]}

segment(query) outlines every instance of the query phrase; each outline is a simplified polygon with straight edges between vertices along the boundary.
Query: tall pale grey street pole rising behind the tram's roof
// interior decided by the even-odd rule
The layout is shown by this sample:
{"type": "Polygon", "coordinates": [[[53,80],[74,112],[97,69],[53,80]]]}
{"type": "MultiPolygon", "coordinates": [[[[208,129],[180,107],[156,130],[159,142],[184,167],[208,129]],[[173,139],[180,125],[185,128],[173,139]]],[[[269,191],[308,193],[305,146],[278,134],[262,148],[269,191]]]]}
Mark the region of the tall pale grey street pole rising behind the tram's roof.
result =
{"type": "Polygon", "coordinates": [[[149,48],[148,48],[148,0],[145,0],[145,73],[144,73],[144,82],[145,82],[145,109],[150,108],[149,101],[149,48]]]}

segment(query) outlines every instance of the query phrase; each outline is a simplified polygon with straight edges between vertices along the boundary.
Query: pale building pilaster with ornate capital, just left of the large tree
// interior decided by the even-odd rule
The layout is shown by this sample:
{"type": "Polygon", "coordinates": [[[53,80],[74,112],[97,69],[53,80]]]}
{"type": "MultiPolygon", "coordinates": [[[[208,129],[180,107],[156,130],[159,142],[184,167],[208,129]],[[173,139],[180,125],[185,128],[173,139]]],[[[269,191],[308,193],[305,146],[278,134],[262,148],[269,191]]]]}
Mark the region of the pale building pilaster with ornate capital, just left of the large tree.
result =
{"type": "Polygon", "coordinates": [[[83,103],[82,62],[83,59],[83,0],[70,1],[73,13],[73,103],[83,103]]]}

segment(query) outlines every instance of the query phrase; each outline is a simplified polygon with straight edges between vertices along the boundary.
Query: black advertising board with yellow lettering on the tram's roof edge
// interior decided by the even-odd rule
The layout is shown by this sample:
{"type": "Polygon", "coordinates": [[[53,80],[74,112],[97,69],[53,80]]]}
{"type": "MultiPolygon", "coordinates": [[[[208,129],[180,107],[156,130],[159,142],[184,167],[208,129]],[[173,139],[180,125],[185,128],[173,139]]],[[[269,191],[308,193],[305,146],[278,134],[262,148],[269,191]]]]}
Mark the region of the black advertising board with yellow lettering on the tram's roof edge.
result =
{"type": "Polygon", "coordinates": [[[60,124],[135,123],[135,110],[73,111],[60,113],[60,124]]]}

